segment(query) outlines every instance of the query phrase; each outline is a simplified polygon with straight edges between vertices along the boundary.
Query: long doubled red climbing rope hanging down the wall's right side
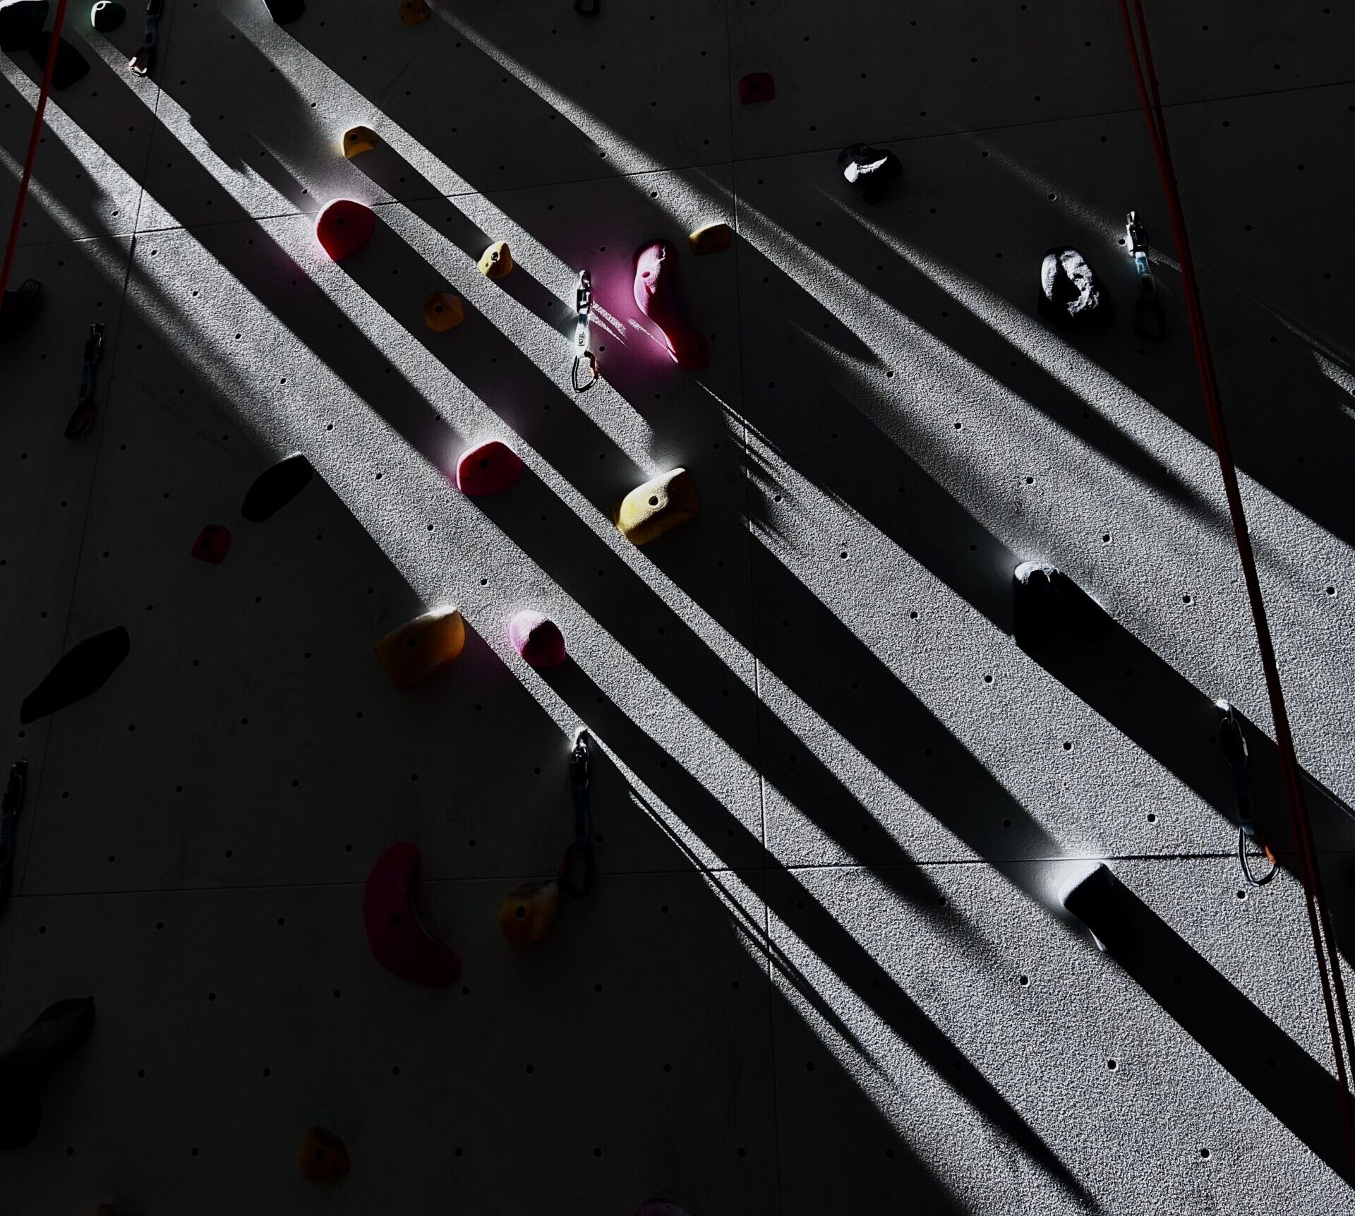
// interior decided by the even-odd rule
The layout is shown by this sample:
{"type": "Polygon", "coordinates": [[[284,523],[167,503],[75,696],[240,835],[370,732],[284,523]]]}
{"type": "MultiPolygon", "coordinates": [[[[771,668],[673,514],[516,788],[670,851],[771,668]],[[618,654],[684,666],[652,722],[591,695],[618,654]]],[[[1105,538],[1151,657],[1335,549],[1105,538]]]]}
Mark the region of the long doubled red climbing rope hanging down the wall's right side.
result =
{"type": "Polygon", "coordinates": [[[1167,211],[1171,217],[1172,237],[1176,241],[1176,255],[1182,268],[1182,294],[1186,298],[1191,342],[1195,346],[1195,363],[1199,367],[1201,390],[1205,397],[1205,409],[1209,415],[1209,428],[1214,439],[1214,451],[1218,455],[1218,466],[1224,474],[1228,514],[1233,523],[1233,538],[1237,542],[1237,556],[1243,564],[1247,599],[1251,603],[1252,624],[1256,628],[1256,643],[1262,652],[1262,666],[1266,671],[1266,690],[1270,695],[1271,717],[1275,723],[1275,743],[1279,747],[1285,801],[1289,804],[1289,819],[1294,831],[1298,878],[1304,885],[1308,923],[1313,933],[1313,953],[1317,958],[1317,973],[1322,986],[1322,1003],[1327,1007],[1327,1028],[1332,1036],[1336,1075],[1341,1086],[1341,1118],[1346,1124],[1346,1147],[1350,1151],[1351,1162],[1355,1163],[1355,1105],[1352,1105],[1351,1095],[1351,1075],[1355,1072],[1355,1036],[1351,1033],[1351,1015],[1346,1002],[1346,984],[1341,979],[1340,953],[1332,931],[1332,920],[1327,911],[1327,897],[1322,893],[1322,877],[1317,864],[1317,850],[1313,843],[1313,824],[1308,815],[1308,801],[1304,796],[1298,755],[1294,751],[1294,736],[1290,732],[1289,712],[1285,708],[1285,690],[1280,686],[1279,666],[1275,662],[1275,644],[1271,640],[1270,624],[1266,620],[1266,602],[1262,598],[1260,579],[1256,573],[1256,557],[1252,553],[1251,534],[1247,530],[1247,516],[1243,511],[1243,496],[1237,487],[1237,466],[1233,464],[1233,453],[1228,442],[1228,428],[1224,423],[1224,407],[1218,396],[1214,358],[1209,346],[1209,333],[1205,328],[1205,312],[1199,301],[1199,285],[1195,279],[1195,259],[1191,254],[1190,236],[1186,230],[1186,213],[1182,207],[1176,169],[1172,164],[1171,144],[1167,138],[1167,117],[1163,111],[1163,98],[1157,87],[1157,69],[1153,66],[1152,46],[1148,41],[1148,19],[1144,16],[1142,0],[1133,0],[1133,5],[1134,15],[1130,19],[1129,0],[1119,0],[1119,12],[1125,22],[1125,37],[1129,41],[1129,53],[1134,68],[1134,81],[1138,85],[1138,99],[1144,108],[1144,118],[1148,121],[1148,131],[1153,141],[1153,156],[1157,159],[1157,172],[1163,179],[1163,192],[1167,197],[1167,211]],[[1142,46],[1142,52],[1140,52],[1140,45],[1142,46]],[[1140,58],[1141,53],[1142,58],[1140,58]]]}

